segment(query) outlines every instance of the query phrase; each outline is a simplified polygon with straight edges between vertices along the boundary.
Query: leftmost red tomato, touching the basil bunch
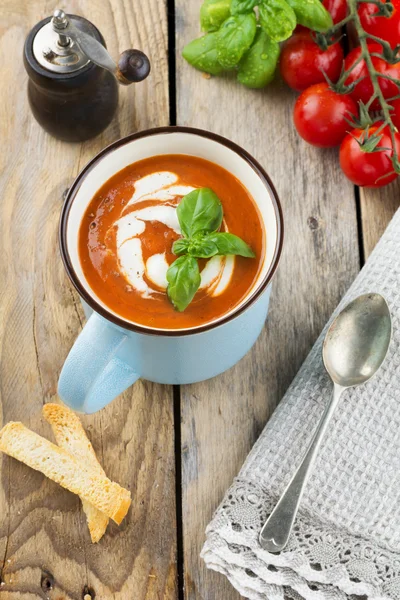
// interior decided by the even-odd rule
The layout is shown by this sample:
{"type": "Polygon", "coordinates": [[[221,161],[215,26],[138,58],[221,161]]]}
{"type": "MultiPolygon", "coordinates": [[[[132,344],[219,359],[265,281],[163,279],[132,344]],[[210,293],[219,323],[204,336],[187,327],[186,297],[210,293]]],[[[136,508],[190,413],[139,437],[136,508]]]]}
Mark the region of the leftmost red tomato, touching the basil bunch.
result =
{"type": "Polygon", "coordinates": [[[280,69],[283,79],[293,90],[301,92],[314,83],[325,81],[325,71],[332,82],[339,79],[343,49],[339,43],[321,50],[310,32],[295,33],[282,48],[280,69]]]}

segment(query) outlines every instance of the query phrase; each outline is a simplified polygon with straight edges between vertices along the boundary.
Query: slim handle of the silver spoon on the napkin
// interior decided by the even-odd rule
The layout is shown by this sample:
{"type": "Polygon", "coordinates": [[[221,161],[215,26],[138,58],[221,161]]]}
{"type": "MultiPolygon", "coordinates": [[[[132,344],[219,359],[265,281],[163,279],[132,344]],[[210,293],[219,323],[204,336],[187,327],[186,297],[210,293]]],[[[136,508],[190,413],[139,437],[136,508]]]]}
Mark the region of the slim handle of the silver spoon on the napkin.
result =
{"type": "Polygon", "coordinates": [[[268,552],[280,552],[288,542],[300,500],[314,465],[322,438],[344,389],[344,387],[334,385],[332,398],[324,410],[300,466],[297,468],[278,504],[261,530],[259,537],[260,544],[268,552]]]}

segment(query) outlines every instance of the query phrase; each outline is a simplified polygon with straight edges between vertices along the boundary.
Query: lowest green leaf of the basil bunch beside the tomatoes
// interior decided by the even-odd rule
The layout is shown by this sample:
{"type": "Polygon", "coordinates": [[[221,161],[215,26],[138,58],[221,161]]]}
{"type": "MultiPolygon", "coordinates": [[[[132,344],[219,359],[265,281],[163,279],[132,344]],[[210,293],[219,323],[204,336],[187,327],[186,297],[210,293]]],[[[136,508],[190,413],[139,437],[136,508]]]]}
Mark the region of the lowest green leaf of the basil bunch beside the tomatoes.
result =
{"type": "Polygon", "coordinates": [[[279,44],[273,42],[260,27],[250,50],[239,63],[238,81],[249,88],[263,88],[275,75],[279,44]]]}

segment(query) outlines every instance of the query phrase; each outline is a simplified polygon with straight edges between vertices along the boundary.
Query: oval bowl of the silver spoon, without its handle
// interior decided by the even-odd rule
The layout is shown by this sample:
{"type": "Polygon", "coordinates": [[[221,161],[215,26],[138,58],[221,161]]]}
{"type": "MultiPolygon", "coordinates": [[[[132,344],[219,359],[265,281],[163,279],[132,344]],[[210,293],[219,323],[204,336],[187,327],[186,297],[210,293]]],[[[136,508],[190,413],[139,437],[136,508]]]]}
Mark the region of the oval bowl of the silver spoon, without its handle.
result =
{"type": "Polygon", "coordinates": [[[336,317],[325,337],[323,360],[341,387],[365,383],[381,366],[392,335],[389,307],[380,294],[364,294],[336,317]]]}

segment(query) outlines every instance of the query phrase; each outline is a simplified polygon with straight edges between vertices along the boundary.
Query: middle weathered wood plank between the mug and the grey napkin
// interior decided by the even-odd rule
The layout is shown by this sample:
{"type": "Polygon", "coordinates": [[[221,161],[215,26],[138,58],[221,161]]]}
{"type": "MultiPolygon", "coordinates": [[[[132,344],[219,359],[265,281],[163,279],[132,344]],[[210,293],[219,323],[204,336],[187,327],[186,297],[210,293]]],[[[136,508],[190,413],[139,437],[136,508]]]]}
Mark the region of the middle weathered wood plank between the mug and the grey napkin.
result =
{"type": "Polygon", "coordinates": [[[207,79],[180,57],[199,35],[200,2],[177,0],[177,118],[221,133],[265,166],[282,200],[285,251],[267,325],[240,364],[210,382],[182,388],[182,502],[185,597],[238,598],[199,559],[204,530],[327,317],[359,269],[353,187],[336,152],[301,141],[294,96],[275,83],[251,91],[207,79]]]}

